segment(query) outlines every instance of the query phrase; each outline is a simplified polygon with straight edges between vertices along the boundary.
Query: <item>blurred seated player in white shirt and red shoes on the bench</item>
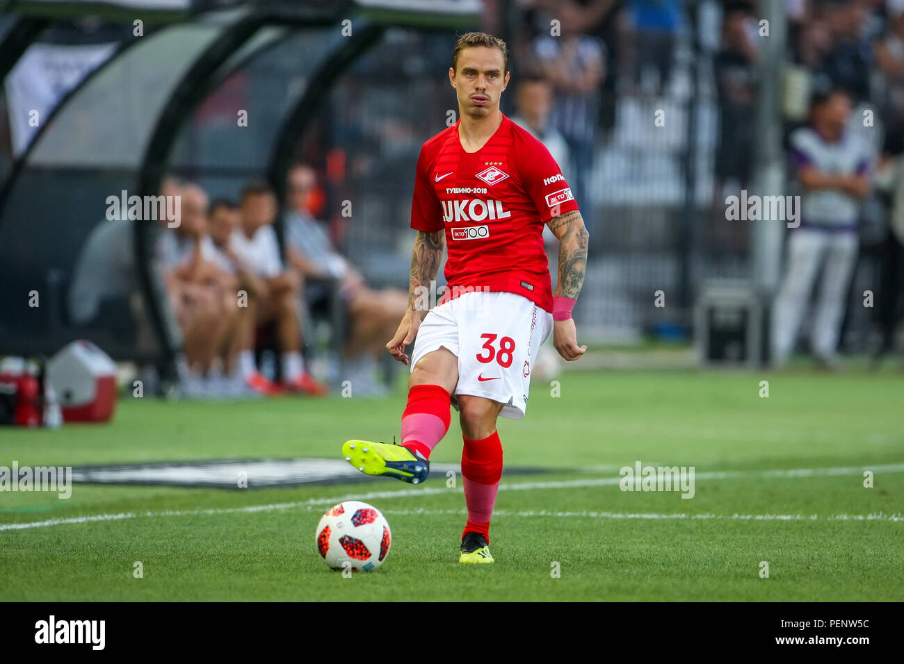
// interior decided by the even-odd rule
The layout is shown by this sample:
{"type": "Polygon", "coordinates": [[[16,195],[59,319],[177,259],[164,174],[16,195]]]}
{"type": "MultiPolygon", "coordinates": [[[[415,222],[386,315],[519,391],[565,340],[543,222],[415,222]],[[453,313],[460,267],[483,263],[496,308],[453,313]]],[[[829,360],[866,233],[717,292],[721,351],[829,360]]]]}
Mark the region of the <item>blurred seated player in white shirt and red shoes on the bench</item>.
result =
{"type": "MultiPolygon", "coordinates": [[[[294,267],[283,267],[273,221],[277,216],[276,197],[264,182],[251,182],[241,193],[239,229],[231,237],[231,250],[244,270],[259,277],[248,305],[256,325],[276,323],[282,360],[282,388],[320,396],[326,386],[305,369],[301,354],[302,279],[294,267]]],[[[239,367],[248,384],[259,391],[278,391],[262,376],[254,361],[253,339],[245,339],[239,353],[239,367]]]]}

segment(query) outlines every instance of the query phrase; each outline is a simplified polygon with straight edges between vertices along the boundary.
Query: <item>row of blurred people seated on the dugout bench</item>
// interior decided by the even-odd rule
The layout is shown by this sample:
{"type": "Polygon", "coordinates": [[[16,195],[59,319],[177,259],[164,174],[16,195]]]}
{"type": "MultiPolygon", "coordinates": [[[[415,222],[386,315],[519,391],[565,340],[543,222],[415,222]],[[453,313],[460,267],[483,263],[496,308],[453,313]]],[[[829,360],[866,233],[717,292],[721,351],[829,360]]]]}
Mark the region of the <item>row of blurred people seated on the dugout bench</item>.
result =
{"type": "MultiPolygon", "coordinates": [[[[309,165],[289,170],[282,215],[286,239],[280,248],[273,227],[276,195],[266,181],[250,181],[235,199],[211,201],[197,183],[165,178],[160,193],[181,197],[181,215],[178,223],[166,216],[160,220],[155,257],[184,337],[189,396],[327,394],[328,386],[312,377],[302,351],[312,314],[332,307],[339,309],[341,323],[330,333],[344,332],[335,340],[342,379],[353,381],[359,393],[384,390],[375,380],[375,365],[405,313],[408,294],[372,288],[334,249],[310,211],[315,179],[309,165]],[[278,366],[267,375],[259,370],[261,343],[278,354],[278,366]]],[[[122,227],[119,220],[106,224],[122,227]]],[[[95,232],[102,234],[103,228],[95,232]]],[[[71,307],[97,299],[100,283],[110,276],[98,267],[113,250],[104,243],[80,262],[71,307]]]]}

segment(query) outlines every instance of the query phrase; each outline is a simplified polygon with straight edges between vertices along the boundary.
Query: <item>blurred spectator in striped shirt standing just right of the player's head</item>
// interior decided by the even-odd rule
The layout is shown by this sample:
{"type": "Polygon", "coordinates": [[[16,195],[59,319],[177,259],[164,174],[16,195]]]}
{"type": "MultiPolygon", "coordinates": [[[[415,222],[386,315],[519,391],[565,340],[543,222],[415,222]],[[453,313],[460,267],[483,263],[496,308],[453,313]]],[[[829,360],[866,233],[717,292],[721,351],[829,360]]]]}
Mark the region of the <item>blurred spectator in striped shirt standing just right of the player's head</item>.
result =
{"type": "Polygon", "coordinates": [[[602,42],[579,33],[581,15],[573,0],[557,5],[561,36],[538,38],[533,52],[544,78],[555,92],[551,123],[568,142],[570,185],[585,210],[584,218],[590,229],[588,183],[596,150],[599,89],[606,76],[606,58],[602,42]]]}

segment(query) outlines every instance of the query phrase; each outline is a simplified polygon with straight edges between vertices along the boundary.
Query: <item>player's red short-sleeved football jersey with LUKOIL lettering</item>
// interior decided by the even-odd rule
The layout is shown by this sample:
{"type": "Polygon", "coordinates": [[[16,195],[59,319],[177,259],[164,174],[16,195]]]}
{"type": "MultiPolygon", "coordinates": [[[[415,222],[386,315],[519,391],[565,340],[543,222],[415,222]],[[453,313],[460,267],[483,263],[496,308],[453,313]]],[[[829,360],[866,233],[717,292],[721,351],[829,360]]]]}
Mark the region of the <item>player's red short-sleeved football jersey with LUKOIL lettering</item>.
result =
{"type": "Polygon", "coordinates": [[[503,115],[486,144],[467,153],[461,120],[420,148],[411,228],[446,229],[446,281],[456,287],[517,293],[552,311],[543,225],[577,210],[550,151],[503,115]]]}

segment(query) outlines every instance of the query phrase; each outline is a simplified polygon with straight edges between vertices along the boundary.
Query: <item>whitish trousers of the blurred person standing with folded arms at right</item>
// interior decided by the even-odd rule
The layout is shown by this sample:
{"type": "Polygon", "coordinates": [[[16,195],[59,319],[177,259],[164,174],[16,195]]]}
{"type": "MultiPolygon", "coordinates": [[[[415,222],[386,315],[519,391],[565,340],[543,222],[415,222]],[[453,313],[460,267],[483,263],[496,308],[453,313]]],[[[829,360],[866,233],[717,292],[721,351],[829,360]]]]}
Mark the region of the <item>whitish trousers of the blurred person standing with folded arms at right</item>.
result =
{"type": "Polygon", "coordinates": [[[852,232],[796,229],[787,242],[785,278],[772,310],[772,357],[785,364],[794,350],[801,319],[819,277],[811,346],[831,360],[838,348],[845,296],[857,261],[858,238],[852,232]]]}

